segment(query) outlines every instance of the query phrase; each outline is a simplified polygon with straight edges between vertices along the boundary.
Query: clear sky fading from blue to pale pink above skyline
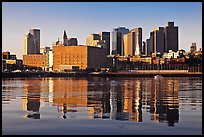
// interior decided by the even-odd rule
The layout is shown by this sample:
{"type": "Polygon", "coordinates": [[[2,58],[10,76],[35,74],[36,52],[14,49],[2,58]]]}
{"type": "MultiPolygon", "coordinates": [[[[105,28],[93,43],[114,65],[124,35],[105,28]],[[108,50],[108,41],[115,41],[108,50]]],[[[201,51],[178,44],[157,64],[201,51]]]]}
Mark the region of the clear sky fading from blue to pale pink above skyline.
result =
{"type": "Polygon", "coordinates": [[[23,55],[23,37],[40,29],[41,47],[52,47],[66,30],[68,37],[86,38],[114,28],[142,27],[142,39],[173,21],[179,27],[179,49],[192,42],[202,48],[202,2],[2,2],[2,52],[23,55]]]}

